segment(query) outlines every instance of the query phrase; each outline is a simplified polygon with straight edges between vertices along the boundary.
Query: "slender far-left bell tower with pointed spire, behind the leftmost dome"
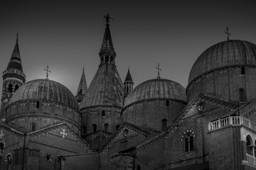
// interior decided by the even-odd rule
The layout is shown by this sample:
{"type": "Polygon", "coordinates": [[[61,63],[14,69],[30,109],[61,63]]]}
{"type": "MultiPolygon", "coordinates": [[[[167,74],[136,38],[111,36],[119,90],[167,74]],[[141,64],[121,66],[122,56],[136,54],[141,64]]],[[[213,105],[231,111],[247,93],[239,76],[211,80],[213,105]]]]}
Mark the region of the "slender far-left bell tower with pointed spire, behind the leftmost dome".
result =
{"type": "Polygon", "coordinates": [[[21,64],[21,54],[18,48],[18,33],[16,38],[16,45],[11,54],[11,59],[7,69],[3,72],[3,89],[1,97],[1,118],[4,118],[4,108],[9,103],[14,92],[25,83],[26,76],[23,73],[21,64]]]}

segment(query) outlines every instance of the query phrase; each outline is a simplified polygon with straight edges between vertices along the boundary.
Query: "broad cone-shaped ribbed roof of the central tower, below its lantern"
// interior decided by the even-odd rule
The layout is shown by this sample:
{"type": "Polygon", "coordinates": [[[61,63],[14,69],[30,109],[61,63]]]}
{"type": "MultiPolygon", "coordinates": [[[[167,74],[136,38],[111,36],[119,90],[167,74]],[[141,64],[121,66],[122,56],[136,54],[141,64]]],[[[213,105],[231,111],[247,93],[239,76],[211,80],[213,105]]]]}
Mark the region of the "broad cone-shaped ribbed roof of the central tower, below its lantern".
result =
{"type": "Polygon", "coordinates": [[[124,85],[114,64],[100,64],[95,77],[82,98],[80,108],[91,106],[123,107],[124,85]]]}

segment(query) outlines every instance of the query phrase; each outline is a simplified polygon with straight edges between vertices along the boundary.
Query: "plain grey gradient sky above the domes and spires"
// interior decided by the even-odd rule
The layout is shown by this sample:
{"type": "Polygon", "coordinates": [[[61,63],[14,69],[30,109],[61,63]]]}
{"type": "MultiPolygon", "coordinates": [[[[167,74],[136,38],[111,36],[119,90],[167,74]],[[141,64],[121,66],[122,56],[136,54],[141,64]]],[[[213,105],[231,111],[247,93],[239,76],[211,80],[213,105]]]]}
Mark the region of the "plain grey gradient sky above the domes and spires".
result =
{"type": "MultiPolygon", "coordinates": [[[[161,78],[186,88],[197,57],[211,45],[230,39],[256,43],[256,1],[1,1],[0,70],[6,69],[19,33],[26,81],[58,81],[76,94],[85,66],[87,86],[100,64],[105,31],[110,30],[116,64],[124,81],[128,66],[134,86],[161,78]]],[[[0,88],[2,79],[0,79],[0,88]]]]}

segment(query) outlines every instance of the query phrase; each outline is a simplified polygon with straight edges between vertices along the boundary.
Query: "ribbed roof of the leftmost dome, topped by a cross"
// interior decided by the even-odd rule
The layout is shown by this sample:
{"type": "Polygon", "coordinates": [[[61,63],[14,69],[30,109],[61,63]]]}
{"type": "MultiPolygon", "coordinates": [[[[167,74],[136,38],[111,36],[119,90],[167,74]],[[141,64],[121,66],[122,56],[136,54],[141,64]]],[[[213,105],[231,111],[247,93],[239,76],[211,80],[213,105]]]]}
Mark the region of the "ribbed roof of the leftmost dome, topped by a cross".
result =
{"type": "Polygon", "coordinates": [[[49,79],[28,81],[14,93],[10,104],[28,99],[54,101],[78,109],[78,103],[71,91],[63,84],[49,79]]]}

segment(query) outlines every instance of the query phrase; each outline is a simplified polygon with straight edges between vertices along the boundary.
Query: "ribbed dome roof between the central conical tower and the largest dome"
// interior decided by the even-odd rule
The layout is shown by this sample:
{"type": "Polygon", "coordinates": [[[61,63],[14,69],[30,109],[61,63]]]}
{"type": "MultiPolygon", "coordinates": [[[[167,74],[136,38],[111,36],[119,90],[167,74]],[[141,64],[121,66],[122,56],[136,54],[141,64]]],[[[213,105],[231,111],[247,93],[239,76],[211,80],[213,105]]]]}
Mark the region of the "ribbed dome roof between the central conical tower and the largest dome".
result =
{"type": "Polygon", "coordinates": [[[169,98],[187,101],[186,89],[181,84],[168,79],[151,79],[139,84],[125,99],[124,106],[147,99],[169,98]]]}

